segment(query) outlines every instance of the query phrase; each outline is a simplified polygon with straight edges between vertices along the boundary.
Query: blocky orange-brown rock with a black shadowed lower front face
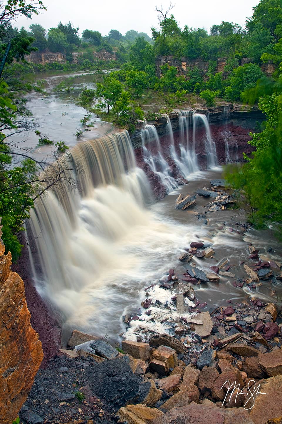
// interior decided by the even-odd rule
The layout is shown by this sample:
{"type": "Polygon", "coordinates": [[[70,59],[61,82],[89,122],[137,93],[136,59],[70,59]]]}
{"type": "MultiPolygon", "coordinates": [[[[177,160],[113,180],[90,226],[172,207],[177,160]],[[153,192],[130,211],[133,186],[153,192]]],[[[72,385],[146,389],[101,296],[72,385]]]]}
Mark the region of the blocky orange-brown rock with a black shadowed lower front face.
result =
{"type": "Polygon", "coordinates": [[[159,346],[157,349],[152,349],[150,355],[150,368],[160,375],[167,375],[170,368],[175,368],[178,365],[175,350],[168,346],[159,346]]]}

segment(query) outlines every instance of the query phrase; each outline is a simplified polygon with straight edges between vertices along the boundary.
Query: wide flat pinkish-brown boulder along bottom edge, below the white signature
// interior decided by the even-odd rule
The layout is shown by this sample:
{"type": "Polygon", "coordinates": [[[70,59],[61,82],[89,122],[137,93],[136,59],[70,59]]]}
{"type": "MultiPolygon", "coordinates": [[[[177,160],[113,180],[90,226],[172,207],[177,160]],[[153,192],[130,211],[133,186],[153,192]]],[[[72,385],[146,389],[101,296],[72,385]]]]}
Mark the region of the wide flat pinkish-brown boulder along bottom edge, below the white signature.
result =
{"type": "Polygon", "coordinates": [[[164,424],[254,424],[244,408],[224,409],[191,402],[165,414],[164,424]]]}

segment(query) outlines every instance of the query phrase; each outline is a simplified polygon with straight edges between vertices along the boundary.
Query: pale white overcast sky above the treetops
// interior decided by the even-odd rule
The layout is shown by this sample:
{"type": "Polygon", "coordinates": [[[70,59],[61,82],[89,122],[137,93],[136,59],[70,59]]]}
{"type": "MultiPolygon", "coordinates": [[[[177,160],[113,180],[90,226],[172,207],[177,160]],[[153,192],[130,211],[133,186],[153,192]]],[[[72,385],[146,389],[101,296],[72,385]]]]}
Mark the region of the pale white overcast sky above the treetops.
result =
{"type": "MultiPolygon", "coordinates": [[[[20,17],[16,21],[19,28],[28,28],[31,23],[39,23],[49,29],[57,26],[60,20],[63,23],[71,21],[79,27],[79,33],[86,28],[100,31],[106,35],[111,29],[117,29],[123,35],[134,29],[146,32],[151,36],[151,27],[158,26],[158,7],[164,8],[170,4],[168,0],[43,0],[47,11],[33,20],[20,17]]],[[[175,0],[172,9],[180,27],[186,24],[192,28],[209,28],[221,21],[234,22],[244,26],[246,17],[252,16],[252,7],[258,0],[175,0]]]]}

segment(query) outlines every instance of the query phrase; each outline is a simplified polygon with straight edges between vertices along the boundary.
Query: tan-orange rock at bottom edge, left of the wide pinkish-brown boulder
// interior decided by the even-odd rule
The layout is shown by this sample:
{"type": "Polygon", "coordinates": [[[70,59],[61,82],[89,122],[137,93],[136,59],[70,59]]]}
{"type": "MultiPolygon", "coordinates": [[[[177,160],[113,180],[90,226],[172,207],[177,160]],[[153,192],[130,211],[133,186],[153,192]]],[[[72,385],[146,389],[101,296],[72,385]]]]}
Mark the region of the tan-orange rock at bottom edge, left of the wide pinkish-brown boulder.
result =
{"type": "Polygon", "coordinates": [[[143,404],[122,407],[118,410],[118,416],[120,421],[126,421],[128,424],[165,423],[165,416],[161,410],[143,404]]]}

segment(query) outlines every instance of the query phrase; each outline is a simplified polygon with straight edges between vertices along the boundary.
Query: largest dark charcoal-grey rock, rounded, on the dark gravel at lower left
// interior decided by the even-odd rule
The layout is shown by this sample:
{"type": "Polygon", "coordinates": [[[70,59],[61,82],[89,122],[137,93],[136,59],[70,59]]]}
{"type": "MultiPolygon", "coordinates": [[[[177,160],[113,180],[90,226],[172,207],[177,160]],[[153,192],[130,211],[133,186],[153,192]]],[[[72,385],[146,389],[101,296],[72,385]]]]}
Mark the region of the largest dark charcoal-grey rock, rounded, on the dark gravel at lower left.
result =
{"type": "Polygon", "coordinates": [[[129,402],[134,403],[139,396],[139,379],[123,358],[97,364],[91,369],[90,378],[90,389],[96,396],[104,399],[112,411],[129,402]]]}

